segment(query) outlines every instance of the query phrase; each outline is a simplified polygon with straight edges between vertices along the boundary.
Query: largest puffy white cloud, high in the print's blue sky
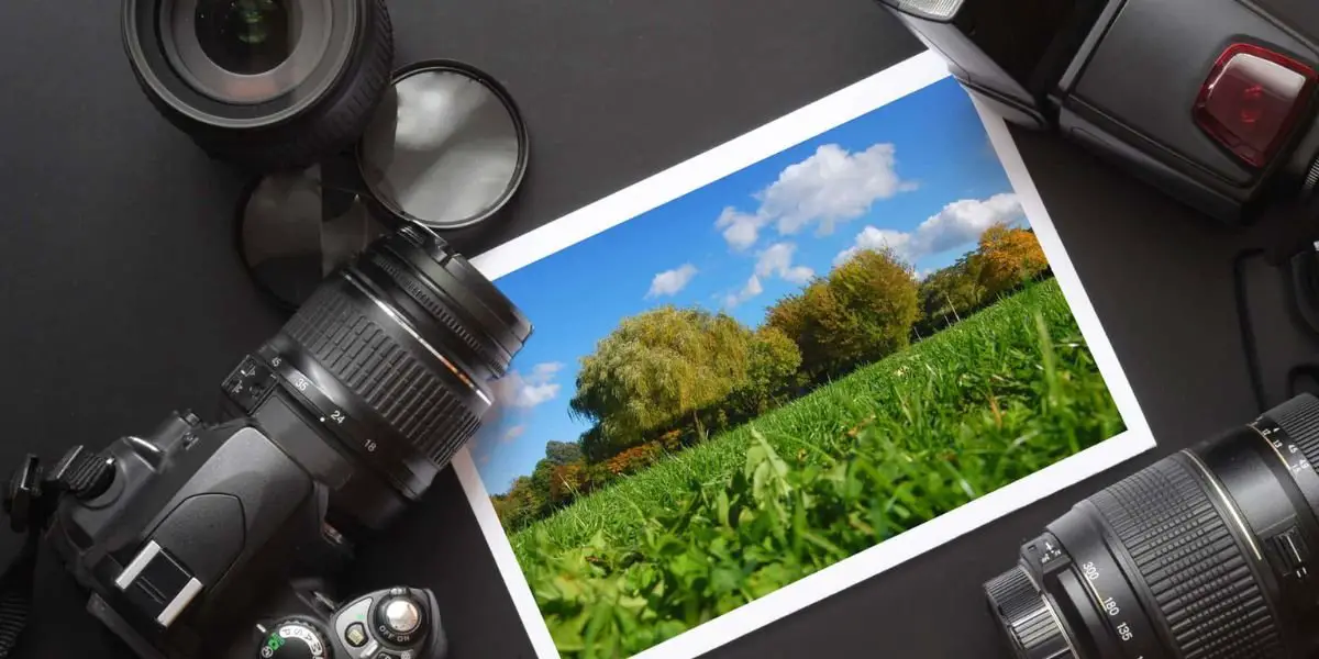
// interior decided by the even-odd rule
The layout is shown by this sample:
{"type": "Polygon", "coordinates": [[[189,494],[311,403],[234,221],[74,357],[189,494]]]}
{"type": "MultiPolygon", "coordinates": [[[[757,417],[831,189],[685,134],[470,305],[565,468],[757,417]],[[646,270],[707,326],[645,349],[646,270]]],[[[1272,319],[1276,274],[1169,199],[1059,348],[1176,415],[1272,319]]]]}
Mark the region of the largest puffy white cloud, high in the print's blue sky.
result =
{"type": "Polygon", "coordinates": [[[894,152],[892,144],[876,144],[859,153],[823,145],[810,158],[785,167],[757,195],[758,215],[773,217],[785,236],[811,224],[820,233],[831,233],[836,223],[860,217],[876,200],[915,190],[915,183],[898,177],[894,152]]]}

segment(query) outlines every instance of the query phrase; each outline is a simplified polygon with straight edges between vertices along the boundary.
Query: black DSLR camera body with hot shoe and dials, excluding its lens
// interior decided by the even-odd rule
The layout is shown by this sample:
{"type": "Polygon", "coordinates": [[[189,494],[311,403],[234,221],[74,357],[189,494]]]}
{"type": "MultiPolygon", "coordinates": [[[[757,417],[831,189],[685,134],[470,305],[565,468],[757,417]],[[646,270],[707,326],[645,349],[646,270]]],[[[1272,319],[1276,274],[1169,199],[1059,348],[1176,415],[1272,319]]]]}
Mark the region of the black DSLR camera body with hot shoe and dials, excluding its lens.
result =
{"type": "Polygon", "coordinates": [[[351,546],[330,488],[252,419],[171,415],[96,460],[109,473],[62,497],[46,539],[138,656],[445,656],[429,590],[336,604],[326,577],[351,546]]]}

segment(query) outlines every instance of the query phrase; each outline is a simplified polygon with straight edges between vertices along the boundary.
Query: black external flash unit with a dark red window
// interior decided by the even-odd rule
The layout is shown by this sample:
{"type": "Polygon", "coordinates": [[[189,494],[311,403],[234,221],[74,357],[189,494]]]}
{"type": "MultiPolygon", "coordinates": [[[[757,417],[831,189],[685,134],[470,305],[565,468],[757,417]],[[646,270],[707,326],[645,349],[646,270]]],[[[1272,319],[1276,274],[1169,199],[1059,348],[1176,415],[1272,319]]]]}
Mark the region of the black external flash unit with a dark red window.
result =
{"type": "Polygon", "coordinates": [[[1319,183],[1312,7],[882,1],[984,105],[1055,129],[1224,223],[1319,183]]]}

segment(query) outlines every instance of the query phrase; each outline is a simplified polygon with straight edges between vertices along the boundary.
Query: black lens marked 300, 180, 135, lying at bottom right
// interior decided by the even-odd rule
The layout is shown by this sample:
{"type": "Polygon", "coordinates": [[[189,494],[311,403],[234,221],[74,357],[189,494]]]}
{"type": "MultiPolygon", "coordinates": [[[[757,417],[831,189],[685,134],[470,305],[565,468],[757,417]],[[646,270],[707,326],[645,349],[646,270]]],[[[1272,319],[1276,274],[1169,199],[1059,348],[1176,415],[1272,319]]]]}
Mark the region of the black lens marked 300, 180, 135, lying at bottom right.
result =
{"type": "Polygon", "coordinates": [[[1315,460],[1304,394],[1082,501],[985,584],[1013,655],[1314,656],[1315,460]]]}

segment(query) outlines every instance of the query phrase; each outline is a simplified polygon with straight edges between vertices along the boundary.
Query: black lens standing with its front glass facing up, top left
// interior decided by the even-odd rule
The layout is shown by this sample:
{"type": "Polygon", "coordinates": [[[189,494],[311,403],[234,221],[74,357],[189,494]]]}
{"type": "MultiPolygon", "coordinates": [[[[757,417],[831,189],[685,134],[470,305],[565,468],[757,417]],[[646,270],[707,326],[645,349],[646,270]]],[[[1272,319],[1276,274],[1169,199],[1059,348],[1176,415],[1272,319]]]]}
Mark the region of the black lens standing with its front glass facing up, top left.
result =
{"type": "Polygon", "coordinates": [[[123,0],[133,74],[215,158],[256,171],[350,149],[389,86],[384,0],[123,0]]]}

